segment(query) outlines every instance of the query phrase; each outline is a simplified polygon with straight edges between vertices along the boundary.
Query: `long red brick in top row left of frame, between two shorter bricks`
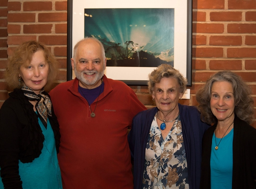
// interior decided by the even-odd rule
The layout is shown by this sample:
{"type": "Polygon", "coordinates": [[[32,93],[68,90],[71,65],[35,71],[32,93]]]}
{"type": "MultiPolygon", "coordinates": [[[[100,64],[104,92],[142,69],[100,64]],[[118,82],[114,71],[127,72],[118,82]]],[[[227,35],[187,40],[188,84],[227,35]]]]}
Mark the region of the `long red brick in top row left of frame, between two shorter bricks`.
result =
{"type": "Polygon", "coordinates": [[[40,11],[40,10],[52,10],[52,2],[24,2],[23,3],[24,11],[40,11]]]}

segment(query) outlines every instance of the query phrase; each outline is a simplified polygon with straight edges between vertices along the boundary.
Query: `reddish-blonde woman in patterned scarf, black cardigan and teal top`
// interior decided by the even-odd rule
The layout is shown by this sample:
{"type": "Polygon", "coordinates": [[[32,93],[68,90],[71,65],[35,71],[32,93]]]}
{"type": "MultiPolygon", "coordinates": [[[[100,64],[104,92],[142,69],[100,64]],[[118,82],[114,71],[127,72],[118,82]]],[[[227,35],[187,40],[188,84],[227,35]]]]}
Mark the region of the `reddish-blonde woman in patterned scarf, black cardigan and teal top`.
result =
{"type": "Polygon", "coordinates": [[[0,188],[62,189],[59,124],[44,91],[57,71],[52,53],[36,41],[8,59],[6,82],[14,91],[0,109],[0,188]]]}

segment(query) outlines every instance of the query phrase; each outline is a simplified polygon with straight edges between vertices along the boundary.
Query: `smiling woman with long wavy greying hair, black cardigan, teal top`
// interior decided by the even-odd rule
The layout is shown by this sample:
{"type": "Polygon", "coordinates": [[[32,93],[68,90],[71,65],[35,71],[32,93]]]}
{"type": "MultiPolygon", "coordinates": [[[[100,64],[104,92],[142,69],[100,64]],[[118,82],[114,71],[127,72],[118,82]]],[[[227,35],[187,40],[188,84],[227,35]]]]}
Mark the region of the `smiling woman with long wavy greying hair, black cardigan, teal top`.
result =
{"type": "Polygon", "coordinates": [[[214,124],[202,142],[201,189],[256,187],[256,129],[250,87],[236,73],[212,75],[196,93],[201,120],[214,124]]]}

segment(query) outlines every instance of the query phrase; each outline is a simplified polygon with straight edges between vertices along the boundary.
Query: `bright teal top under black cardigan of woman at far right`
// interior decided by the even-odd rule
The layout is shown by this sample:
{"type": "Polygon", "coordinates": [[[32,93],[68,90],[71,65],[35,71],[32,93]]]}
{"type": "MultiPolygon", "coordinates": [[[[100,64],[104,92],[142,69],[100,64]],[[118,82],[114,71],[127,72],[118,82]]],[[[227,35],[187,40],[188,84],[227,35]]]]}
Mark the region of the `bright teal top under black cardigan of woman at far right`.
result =
{"type": "Polygon", "coordinates": [[[222,140],[221,138],[216,138],[216,142],[215,134],[212,136],[210,159],[211,189],[232,189],[233,136],[234,129],[223,137],[222,140]],[[215,150],[216,144],[218,145],[218,150],[215,150]]]}

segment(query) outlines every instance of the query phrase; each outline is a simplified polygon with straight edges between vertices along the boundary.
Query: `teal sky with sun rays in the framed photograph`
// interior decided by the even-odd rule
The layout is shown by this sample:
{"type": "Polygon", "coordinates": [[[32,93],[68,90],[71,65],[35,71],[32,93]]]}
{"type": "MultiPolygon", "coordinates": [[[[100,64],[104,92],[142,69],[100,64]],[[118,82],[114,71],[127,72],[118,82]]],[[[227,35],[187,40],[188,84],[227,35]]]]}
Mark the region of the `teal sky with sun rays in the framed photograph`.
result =
{"type": "Polygon", "coordinates": [[[84,36],[94,36],[104,46],[126,41],[138,43],[138,51],[173,61],[174,9],[102,8],[84,10],[84,36]]]}

